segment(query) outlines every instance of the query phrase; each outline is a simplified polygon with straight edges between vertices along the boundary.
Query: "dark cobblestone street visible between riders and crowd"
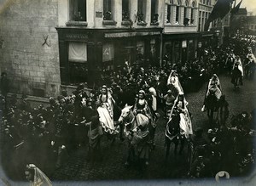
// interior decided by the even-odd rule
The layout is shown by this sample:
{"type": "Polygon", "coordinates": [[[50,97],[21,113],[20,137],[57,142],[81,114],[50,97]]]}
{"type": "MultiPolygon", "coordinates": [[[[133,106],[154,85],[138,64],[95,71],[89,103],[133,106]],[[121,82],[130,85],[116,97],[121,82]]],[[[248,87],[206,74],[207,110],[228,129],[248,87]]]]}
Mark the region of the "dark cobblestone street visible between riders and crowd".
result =
{"type": "MultiPolygon", "coordinates": [[[[241,111],[250,112],[256,103],[256,86],[254,80],[244,80],[244,86],[234,90],[229,76],[220,76],[223,93],[230,104],[230,116],[241,111]]],[[[193,115],[193,127],[203,127],[207,131],[207,113],[201,112],[207,83],[197,93],[186,94],[189,102],[189,111],[193,115]]],[[[162,113],[161,113],[162,114],[162,113]]],[[[230,121],[230,117],[229,117],[230,121]]],[[[228,121],[228,123],[229,123],[228,121]]],[[[120,142],[117,139],[111,144],[106,137],[102,138],[102,160],[89,161],[87,159],[87,147],[80,147],[69,155],[63,165],[51,175],[51,180],[124,180],[124,179],[170,179],[185,178],[188,165],[185,163],[185,155],[174,157],[173,149],[166,160],[165,150],[166,121],[160,117],[155,134],[155,149],[151,152],[149,165],[145,169],[137,166],[125,167],[127,155],[127,141],[120,142]]],[[[84,134],[86,135],[86,134],[84,134]]],[[[173,147],[172,147],[173,148],[173,147]]]]}

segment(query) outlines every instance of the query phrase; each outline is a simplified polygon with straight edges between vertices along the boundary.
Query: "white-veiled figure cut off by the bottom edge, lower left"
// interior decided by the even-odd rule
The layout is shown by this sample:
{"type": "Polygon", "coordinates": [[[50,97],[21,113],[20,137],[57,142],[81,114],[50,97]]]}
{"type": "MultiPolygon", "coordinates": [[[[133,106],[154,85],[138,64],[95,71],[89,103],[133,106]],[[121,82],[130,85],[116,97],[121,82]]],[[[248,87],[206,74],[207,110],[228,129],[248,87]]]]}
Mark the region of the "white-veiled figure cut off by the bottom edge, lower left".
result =
{"type": "Polygon", "coordinates": [[[49,178],[37,166],[29,164],[25,171],[26,179],[30,181],[31,186],[51,186],[49,178]]]}

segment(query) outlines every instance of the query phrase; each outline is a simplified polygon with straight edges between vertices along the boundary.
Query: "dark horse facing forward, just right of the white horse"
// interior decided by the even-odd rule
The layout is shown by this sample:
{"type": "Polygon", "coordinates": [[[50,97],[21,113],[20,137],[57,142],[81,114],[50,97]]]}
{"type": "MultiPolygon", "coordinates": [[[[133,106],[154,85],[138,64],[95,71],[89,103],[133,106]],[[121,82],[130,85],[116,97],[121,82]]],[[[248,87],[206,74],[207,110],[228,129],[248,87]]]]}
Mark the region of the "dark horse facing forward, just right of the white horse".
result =
{"type": "Polygon", "coordinates": [[[184,143],[186,138],[180,133],[180,115],[174,114],[172,115],[172,120],[168,121],[166,124],[166,157],[169,155],[170,146],[173,142],[175,144],[174,147],[174,155],[177,155],[177,145],[181,144],[179,149],[179,155],[182,154],[184,149],[184,143]]]}

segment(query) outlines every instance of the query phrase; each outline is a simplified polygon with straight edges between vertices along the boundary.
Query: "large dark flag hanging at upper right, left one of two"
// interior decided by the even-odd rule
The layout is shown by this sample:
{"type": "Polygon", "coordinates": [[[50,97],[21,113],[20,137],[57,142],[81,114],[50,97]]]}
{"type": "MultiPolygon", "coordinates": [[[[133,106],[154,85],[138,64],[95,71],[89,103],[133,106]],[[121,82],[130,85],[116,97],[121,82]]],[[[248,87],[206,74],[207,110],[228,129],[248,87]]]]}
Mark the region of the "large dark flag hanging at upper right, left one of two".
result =
{"type": "Polygon", "coordinates": [[[209,18],[206,21],[205,31],[208,30],[210,23],[213,20],[217,20],[218,18],[223,19],[224,16],[230,12],[230,4],[233,3],[233,1],[234,0],[218,0],[212,9],[212,13],[209,15],[209,18]]]}

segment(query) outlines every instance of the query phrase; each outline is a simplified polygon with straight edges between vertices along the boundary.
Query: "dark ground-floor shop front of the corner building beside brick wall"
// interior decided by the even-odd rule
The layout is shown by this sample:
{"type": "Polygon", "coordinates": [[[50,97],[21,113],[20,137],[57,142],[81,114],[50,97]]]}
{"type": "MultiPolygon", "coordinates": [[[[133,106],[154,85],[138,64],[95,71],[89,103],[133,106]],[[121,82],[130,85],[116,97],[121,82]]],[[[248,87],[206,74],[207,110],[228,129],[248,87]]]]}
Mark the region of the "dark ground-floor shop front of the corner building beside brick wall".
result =
{"type": "Polygon", "coordinates": [[[159,65],[161,29],[57,28],[61,84],[97,86],[103,71],[129,65],[159,65]]]}

